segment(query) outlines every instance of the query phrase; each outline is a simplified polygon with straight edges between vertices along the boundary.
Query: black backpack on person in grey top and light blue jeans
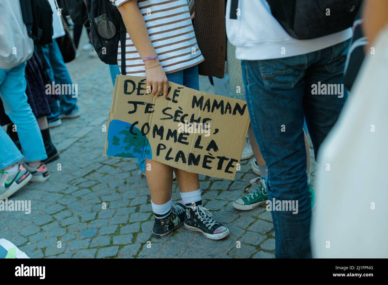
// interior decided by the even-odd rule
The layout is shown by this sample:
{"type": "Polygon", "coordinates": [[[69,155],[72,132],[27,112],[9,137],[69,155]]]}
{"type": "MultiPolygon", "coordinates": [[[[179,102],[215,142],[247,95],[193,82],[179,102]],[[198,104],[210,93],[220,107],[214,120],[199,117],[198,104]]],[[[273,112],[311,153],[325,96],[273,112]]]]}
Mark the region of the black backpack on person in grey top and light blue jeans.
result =
{"type": "Polygon", "coordinates": [[[35,44],[52,43],[52,9],[47,0],[20,0],[23,22],[35,44]]]}

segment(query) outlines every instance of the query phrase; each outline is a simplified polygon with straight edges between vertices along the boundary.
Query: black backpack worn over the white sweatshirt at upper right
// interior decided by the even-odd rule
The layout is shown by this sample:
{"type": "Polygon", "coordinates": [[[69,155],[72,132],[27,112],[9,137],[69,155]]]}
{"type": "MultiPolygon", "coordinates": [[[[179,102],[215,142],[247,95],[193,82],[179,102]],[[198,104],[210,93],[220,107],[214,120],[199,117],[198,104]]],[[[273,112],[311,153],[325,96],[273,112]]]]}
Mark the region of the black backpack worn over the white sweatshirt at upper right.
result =
{"type": "Polygon", "coordinates": [[[267,0],[272,16],[293,38],[308,40],[353,25],[362,0],[267,0]]]}

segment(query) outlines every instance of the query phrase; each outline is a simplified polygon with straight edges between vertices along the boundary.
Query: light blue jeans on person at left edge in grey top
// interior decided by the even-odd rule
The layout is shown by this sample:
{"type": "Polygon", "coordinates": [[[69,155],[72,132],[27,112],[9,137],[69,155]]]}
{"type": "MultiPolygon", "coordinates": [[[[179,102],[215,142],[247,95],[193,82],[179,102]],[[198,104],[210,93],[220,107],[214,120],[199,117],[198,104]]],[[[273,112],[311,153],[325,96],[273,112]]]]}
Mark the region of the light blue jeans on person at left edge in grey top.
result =
{"type": "MultiPolygon", "coordinates": [[[[25,68],[26,62],[12,69],[0,69],[0,97],[5,114],[16,125],[26,162],[42,161],[47,155],[38,122],[27,103],[25,68]]],[[[21,159],[23,155],[0,127],[0,170],[21,159]]]]}

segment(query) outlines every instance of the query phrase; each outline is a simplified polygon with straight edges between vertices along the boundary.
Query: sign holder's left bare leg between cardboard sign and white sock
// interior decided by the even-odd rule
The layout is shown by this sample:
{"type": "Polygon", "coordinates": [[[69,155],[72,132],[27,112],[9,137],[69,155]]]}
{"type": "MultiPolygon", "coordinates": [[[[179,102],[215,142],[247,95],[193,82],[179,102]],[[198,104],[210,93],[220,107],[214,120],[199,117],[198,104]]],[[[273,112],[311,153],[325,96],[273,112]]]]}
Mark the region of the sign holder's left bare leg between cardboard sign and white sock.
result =
{"type": "Polygon", "coordinates": [[[166,164],[146,159],[151,164],[151,170],[145,171],[152,203],[156,205],[166,204],[171,199],[173,168],[166,164]]]}

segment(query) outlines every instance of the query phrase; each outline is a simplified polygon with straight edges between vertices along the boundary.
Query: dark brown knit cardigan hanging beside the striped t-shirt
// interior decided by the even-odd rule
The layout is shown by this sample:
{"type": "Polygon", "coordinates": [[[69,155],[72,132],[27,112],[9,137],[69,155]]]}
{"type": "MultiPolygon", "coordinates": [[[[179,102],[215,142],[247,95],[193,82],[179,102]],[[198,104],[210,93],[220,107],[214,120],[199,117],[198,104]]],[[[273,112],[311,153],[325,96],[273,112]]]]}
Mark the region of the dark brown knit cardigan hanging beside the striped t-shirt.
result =
{"type": "Polygon", "coordinates": [[[204,61],[200,75],[223,78],[226,60],[226,0],[195,0],[194,30],[204,61]]]}

